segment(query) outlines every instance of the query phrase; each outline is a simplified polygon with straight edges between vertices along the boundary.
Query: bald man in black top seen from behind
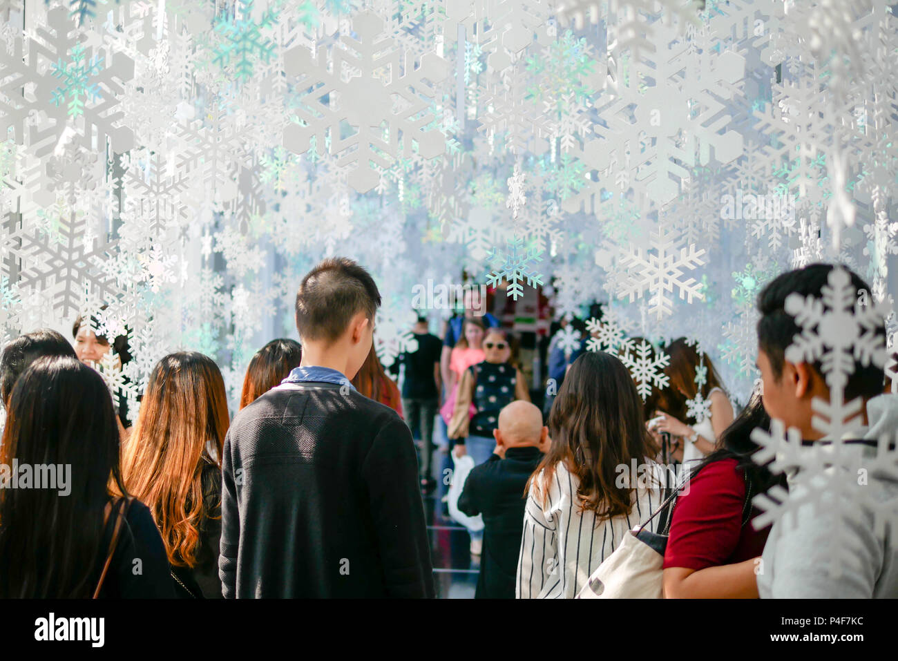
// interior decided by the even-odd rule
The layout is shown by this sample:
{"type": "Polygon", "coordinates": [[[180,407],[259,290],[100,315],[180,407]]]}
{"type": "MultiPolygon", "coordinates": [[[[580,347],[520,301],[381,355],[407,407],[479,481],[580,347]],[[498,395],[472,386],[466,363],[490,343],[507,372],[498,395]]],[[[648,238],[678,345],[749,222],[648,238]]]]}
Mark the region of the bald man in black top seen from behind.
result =
{"type": "Polygon", "coordinates": [[[496,450],[468,474],[458,508],[483,515],[478,599],[514,599],[517,557],[524,534],[524,490],[549,449],[549,429],[529,401],[513,401],[499,413],[496,450]]]}

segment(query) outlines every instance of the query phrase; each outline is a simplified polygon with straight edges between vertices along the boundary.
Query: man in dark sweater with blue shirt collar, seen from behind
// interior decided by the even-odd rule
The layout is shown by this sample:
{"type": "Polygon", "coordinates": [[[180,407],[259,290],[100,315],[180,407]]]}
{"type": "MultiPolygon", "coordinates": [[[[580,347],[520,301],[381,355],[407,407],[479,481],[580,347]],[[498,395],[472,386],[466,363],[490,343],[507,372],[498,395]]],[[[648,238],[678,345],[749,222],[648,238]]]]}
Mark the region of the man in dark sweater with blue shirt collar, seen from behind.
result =
{"type": "Polygon", "coordinates": [[[380,303],[352,260],[324,260],[303,279],[302,364],[225,436],[225,597],[435,595],[409,427],[349,383],[380,303]]]}

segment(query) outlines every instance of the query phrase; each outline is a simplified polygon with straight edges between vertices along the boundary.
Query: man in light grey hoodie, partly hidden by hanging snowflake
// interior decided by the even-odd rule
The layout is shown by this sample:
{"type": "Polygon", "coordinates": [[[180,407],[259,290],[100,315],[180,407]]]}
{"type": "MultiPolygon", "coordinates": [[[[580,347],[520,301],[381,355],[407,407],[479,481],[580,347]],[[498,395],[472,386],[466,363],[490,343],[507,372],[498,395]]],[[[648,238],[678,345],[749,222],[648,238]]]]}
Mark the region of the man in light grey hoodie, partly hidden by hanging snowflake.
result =
{"type": "MultiPolygon", "coordinates": [[[[882,360],[859,359],[863,352],[857,346],[853,370],[844,370],[850,372],[847,380],[839,383],[838,379],[826,378],[832,371],[826,351],[844,349],[829,346],[841,341],[832,334],[831,322],[850,324],[850,316],[848,321],[827,320],[831,324],[827,329],[823,329],[823,322],[819,324],[815,334],[821,339],[822,351],[820,345],[815,352],[805,348],[803,357],[788,351],[803,330],[804,339],[808,336],[807,326],[799,328],[796,317],[786,312],[788,296],[813,296],[820,301],[828,291],[832,303],[832,291],[839,288],[837,278],[831,278],[833,269],[828,264],[812,264],[789,271],[770,282],[758,297],[761,319],[757,364],[764,408],[770,418],[797,428],[803,439],[802,446],[793,448],[790,461],[782,461],[791,512],[773,524],[764,547],[757,570],[762,598],[898,596],[898,534],[894,534],[898,527],[898,454],[891,452],[889,445],[891,442],[894,450],[898,395],[884,394],[882,360]],[[789,360],[787,354],[795,360],[789,360]],[[833,383],[843,388],[844,401],[860,398],[863,402],[858,419],[846,425],[851,427],[850,433],[841,435],[841,442],[835,444],[832,437],[812,424],[819,412],[812,401],[819,398],[830,402],[833,383]],[[795,516],[791,516],[793,513],[795,516]]],[[[857,274],[846,271],[854,290],[850,303],[864,300],[869,286],[857,274]]],[[[841,278],[841,286],[849,287],[847,278],[841,278]]],[[[843,300],[849,300],[848,296],[843,300]]],[[[853,306],[856,315],[858,309],[853,306]]],[[[885,339],[882,320],[868,323],[867,330],[872,344],[885,339]]],[[[835,331],[843,330],[840,326],[835,331]]],[[[885,355],[884,349],[884,343],[876,349],[880,357],[885,355]]],[[[835,399],[840,399],[838,393],[835,399]]]]}

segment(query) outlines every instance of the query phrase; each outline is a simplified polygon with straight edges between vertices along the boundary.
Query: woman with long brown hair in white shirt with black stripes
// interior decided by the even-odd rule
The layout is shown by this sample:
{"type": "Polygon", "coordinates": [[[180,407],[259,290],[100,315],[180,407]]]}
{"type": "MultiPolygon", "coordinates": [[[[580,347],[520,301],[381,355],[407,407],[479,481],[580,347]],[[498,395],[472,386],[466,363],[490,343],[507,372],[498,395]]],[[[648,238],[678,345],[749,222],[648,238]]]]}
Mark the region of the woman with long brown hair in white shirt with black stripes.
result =
{"type": "Polygon", "coordinates": [[[617,357],[599,351],[577,358],[552,404],[549,429],[549,453],[527,485],[519,599],[573,598],[662,501],[657,448],[617,357]]]}

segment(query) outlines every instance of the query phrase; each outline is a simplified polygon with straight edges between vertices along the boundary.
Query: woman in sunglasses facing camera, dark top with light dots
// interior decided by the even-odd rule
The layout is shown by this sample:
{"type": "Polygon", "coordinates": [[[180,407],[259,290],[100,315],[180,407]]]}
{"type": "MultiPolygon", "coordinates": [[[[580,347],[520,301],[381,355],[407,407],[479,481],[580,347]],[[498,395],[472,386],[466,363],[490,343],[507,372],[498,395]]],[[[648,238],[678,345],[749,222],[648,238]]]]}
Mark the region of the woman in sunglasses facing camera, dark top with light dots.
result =
{"type": "Polygon", "coordinates": [[[521,370],[510,362],[511,346],[506,331],[491,328],[483,337],[484,360],[465,370],[458,386],[449,437],[456,439],[456,456],[471,454],[475,464],[484,463],[496,449],[493,431],[499,411],[515,400],[530,401],[521,370]],[[473,403],[477,413],[468,417],[473,403]]]}

